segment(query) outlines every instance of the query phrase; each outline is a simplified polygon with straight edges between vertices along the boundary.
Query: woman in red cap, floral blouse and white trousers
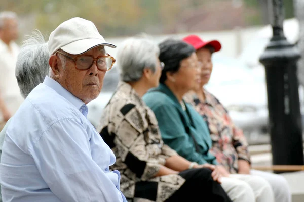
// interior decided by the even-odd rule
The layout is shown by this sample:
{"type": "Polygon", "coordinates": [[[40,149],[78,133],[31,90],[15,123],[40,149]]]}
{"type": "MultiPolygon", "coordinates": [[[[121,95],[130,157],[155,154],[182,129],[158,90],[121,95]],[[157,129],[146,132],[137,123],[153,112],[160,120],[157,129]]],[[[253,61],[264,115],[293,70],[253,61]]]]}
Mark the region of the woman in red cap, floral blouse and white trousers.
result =
{"type": "Polygon", "coordinates": [[[200,85],[184,99],[194,106],[208,125],[213,142],[211,154],[227,172],[263,177],[271,184],[276,202],[290,202],[290,188],[283,176],[250,168],[248,143],[243,131],[233,123],[220,101],[204,88],[212,74],[212,54],[221,49],[221,44],[217,40],[203,41],[197,35],[189,35],[183,41],[196,49],[196,55],[202,64],[200,85]]]}

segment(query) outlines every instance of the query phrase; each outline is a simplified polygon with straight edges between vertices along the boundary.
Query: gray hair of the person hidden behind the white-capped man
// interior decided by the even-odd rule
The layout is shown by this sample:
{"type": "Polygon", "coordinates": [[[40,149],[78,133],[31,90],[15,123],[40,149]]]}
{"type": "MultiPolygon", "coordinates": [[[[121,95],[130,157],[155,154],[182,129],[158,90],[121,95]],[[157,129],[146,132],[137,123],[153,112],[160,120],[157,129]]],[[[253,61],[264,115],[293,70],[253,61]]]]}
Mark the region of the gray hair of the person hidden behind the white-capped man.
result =
{"type": "Polygon", "coordinates": [[[20,93],[24,98],[48,75],[49,57],[48,43],[38,30],[23,41],[15,73],[20,93]]]}

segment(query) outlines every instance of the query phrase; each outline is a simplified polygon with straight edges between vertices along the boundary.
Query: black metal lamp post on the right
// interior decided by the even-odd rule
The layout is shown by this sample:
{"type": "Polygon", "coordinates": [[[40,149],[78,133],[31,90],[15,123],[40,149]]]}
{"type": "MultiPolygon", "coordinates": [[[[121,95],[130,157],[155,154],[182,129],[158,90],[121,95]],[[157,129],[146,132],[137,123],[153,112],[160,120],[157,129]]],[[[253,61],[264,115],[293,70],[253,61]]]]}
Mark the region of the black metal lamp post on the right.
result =
{"type": "Polygon", "coordinates": [[[283,0],[269,0],[273,37],[260,62],[265,66],[273,165],[303,165],[301,113],[296,75],[300,54],[283,33],[283,0]]]}

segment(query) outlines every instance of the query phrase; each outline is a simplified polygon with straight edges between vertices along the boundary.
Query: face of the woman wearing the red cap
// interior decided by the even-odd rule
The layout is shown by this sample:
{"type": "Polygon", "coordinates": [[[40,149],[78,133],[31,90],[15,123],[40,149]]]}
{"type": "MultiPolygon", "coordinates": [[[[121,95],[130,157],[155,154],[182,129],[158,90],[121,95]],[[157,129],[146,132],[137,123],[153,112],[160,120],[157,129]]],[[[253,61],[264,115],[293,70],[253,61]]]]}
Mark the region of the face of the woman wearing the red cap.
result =
{"type": "Polygon", "coordinates": [[[196,55],[198,57],[199,62],[202,65],[201,68],[201,86],[207,84],[210,80],[210,76],[212,73],[212,60],[211,60],[211,52],[208,48],[201,48],[196,51],[196,55]]]}

